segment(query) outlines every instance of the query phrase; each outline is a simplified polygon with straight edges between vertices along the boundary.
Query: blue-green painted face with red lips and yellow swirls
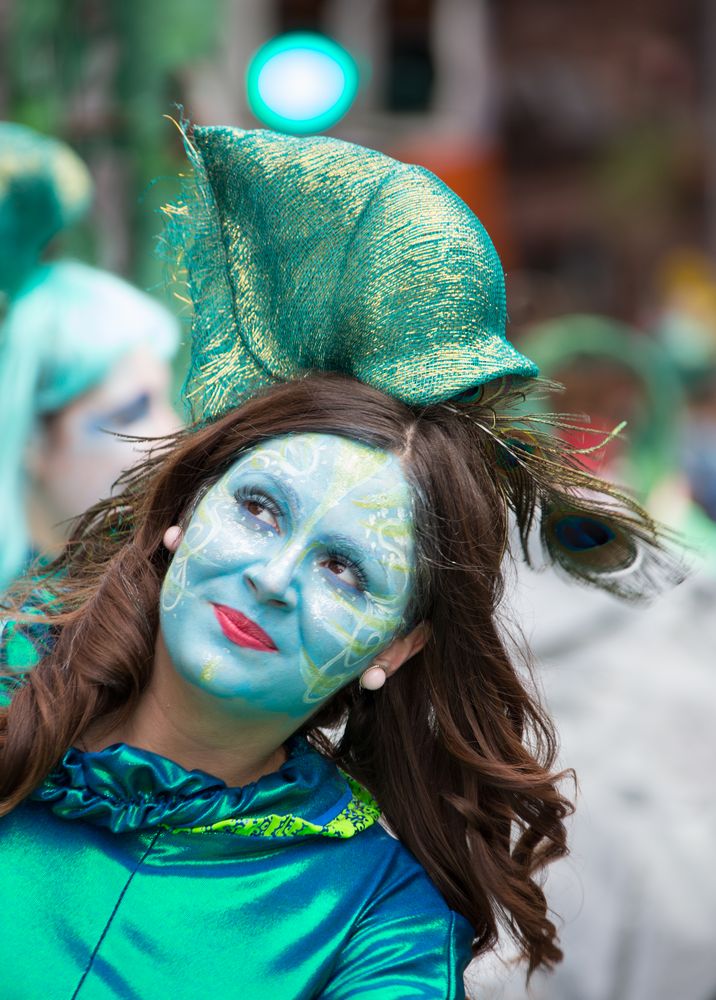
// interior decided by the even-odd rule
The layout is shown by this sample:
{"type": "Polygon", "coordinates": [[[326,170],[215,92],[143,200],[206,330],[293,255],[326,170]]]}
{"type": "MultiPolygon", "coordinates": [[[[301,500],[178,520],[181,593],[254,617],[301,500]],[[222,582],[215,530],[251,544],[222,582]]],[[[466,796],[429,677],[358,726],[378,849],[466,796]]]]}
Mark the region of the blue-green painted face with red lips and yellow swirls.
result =
{"type": "Polygon", "coordinates": [[[175,669],[238,712],[310,715],[406,627],[411,491],[395,455],[274,438],[202,498],[162,587],[175,669]]]}

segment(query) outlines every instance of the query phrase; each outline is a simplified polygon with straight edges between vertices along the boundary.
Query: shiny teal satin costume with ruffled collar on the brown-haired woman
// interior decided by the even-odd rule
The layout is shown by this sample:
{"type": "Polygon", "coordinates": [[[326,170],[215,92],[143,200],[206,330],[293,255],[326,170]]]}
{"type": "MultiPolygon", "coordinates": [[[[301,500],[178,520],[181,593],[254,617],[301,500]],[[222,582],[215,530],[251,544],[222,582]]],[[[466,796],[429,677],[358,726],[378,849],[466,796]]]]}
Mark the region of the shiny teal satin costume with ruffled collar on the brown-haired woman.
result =
{"type": "Polygon", "coordinates": [[[300,738],[244,788],[70,749],[0,819],[3,1000],[458,1000],[472,931],[300,738]]]}

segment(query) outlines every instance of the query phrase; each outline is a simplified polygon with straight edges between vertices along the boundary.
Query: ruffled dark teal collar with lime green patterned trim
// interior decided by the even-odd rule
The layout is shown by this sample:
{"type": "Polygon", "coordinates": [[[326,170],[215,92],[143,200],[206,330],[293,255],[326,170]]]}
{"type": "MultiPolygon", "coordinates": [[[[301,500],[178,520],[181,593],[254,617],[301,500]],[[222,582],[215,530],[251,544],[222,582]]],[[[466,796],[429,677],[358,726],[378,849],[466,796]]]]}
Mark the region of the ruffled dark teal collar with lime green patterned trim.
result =
{"type": "Polygon", "coordinates": [[[379,816],[369,793],[302,737],[290,742],[278,771],[240,788],[124,743],[92,753],[71,747],[32,798],[63,819],[114,833],[165,828],[282,839],[351,837],[379,816]]]}

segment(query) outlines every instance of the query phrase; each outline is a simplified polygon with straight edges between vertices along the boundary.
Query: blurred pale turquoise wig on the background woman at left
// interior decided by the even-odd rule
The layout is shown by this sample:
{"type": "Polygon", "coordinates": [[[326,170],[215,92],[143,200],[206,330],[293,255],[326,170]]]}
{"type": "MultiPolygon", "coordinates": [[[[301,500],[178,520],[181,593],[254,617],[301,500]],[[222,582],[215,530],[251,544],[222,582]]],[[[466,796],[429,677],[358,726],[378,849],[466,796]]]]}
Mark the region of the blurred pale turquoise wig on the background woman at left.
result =
{"type": "Polygon", "coordinates": [[[30,549],[25,452],[38,422],[99,385],[137,347],[169,359],[178,342],[164,306],[105,271],[59,261],[25,283],[0,327],[0,588],[30,549]]]}

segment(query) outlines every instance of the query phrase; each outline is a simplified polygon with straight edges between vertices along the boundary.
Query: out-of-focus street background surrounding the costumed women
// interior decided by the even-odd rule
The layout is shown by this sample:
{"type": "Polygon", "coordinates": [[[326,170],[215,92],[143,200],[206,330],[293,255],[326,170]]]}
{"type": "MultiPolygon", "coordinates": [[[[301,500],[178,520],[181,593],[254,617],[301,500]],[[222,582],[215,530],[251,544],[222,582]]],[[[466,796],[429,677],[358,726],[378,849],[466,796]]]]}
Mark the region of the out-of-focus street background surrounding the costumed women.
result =
{"type": "MultiPolygon", "coordinates": [[[[716,1000],[716,2],[0,0],[0,119],[66,142],[94,183],[48,256],[181,318],[155,255],[186,169],[163,116],[265,127],[247,70],[297,31],[357,68],[328,134],[470,205],[505,267],[510,339],[566,386],[557,408],[628,421],[595,467],[693,566],[647,611],[516,571],[507,616],[581,784],[573,856],[547,883],[565,962],[529,995],[716,1000]]],[[[506,949],[470,982],[521,1000],[523,980],[506,949]]]]}

